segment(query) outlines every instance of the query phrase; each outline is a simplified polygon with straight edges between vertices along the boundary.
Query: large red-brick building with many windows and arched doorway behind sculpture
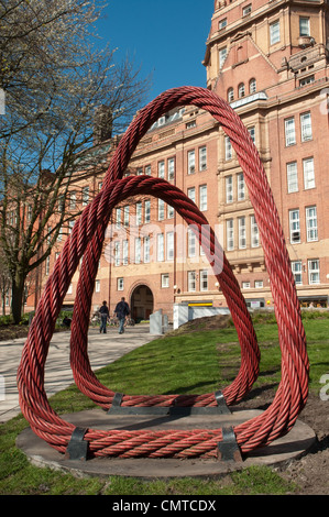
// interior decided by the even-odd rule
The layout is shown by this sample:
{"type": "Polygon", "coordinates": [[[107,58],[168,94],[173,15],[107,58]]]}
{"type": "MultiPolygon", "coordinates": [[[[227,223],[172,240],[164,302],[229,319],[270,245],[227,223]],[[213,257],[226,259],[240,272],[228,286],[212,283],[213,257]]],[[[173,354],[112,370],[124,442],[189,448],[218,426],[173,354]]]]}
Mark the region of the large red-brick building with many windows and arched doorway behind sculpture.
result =
{"type": "MultiPolygon", "coordinates": [[[[205,87],[228,100],[259,150],[300,302],[326,307],[328,9],[323,0],[217,0],[204,61],[205,87]]],[[[218,230],[248,305],[271,307],[253,208],[230,141],[217,121],[193,107],[166,113],[140,142],[127,174],[164,177],[193,198],[218,230]]],[[[80,185],[81,201],[87,202],[88,189],[97,193],[99,184],[99,177],[91,177],[80,185]]],[[[54,260],[45,264],[43,277],[54,260]]],[[[74,304],[77,277],[78,272],[66,306],[74,304]]],[[[136,319],[160,308],[172,319],[173,304],[180,301],[226,305],[183,220],[145,196],[127,200],[112,213],[92,308],[106,299],[112,310],[121,296],[136,319]]]]}

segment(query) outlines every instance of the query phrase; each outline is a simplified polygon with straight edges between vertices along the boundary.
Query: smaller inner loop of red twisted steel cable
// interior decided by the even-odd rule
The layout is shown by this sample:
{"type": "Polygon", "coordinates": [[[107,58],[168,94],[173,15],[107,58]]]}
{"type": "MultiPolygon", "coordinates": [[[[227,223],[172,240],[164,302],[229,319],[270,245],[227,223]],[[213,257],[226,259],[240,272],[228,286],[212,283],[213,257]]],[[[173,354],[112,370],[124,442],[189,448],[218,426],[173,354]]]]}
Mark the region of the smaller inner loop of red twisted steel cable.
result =
{"type": "MultiPolygon", "coordinates": [[[[109,188],[109,187],[108,187],[109,188]]],[[[189,224],[190,229],[199,239],[204,246],[205,255],[212,265],[213,271],[218,272],[216,277],[222,288],[222,293],[228,300],[233,321],[237,324],[238,337],[241,344],[241,367],[240,372],[231,384],[223,389],[223,396],[227,404],[231,405],[243,398],[254,384],[259,374],[260,351],[256,342],[256,336],[253,329],[250,314],[246,309],[244,298],[241,294],[239,284],[232,273],[232,270],[224,256],[220,243],[208,224],[207,219],[199,211],[197,206],[187,198],[177,187],[165,180],[152,178],[150,176],[131,176],[122,179],[120,183],[110,184],[112,189],[108,204],[108,213],[112,208],[123,199],[134,195],[151,194],[161,197],[164,201],[173,206],[189,224]]],[[[101,215],[103,220],[106,216],[101,215]]],[[[106,219],[107,222],[107,219],[106,219]]],[[[96,242],[96,240],[95,240],[96,242]]],[[[101,241],[97,241],[99,244],[101,241]]],[[[98,246],[98,252],[100,251],[98,246]]],[[[94,251],[94,249],[92,249],[94,251]]],[[[114,392],[102,386],[91,371],[87,354],[87,330],[88,315],[90,314],[91,296],[94,290],[95,276],[97,273],[99,255],[94,255],[89,261],[87,255],[83,263],[80,277],[77,286],[77,302],[72,323],[70,339],[70,364],[76,385],[79,389],[99,404],[105,409],[109,409],[114,392]],[[79,310],[80,304],[83,309],[79,310]]],[[[216,406],[215,394],[207,395],[167,395],[167,396],[123,396],[121,406],[216,406]]]]}

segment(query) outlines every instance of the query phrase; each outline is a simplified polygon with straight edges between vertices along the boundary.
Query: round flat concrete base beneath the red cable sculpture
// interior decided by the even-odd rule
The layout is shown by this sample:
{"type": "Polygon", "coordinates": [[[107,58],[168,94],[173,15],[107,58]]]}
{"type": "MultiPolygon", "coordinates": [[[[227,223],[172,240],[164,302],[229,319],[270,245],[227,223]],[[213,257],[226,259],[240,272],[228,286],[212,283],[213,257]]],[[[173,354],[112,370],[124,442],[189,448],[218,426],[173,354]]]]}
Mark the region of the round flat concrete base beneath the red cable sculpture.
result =
{"type": "MultiPolygon", "coordinates": [[[[102,409],[92,409],[63,416],[77,427],[89,429],[213,429],[237,426],[260,415],[259,410],[232,410],[231,415],[219,416],[110,416],[102,409]]],[[[144,480],[185,476],[220,476],[250,465],[278,465],[303,455],[315,442],[316,436],[304,422],[297,421],[292,431],[267,447],[253,451],[242,462],[219,461],[217,459],[118,459],[95,458],[87,461],[66,459],[44,440],[25,429],[18,438],[18,447],[37,466],[70,472],[81,476],[140,477],[144,480]]]]}

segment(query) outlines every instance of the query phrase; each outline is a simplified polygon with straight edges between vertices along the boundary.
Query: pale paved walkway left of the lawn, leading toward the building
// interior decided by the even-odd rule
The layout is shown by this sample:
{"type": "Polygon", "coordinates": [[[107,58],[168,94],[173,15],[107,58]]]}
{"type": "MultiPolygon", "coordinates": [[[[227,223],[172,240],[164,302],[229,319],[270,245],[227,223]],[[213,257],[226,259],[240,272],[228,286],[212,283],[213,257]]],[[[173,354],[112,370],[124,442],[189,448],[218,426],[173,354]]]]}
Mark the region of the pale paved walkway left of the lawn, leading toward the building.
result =
{"type": "MultiPolygon", "coordinates": [[[[97,371],[131,350],[145,344],[156,336],[150,334],[149,324],[129,327],[119,336],[117,329],[110,328],[108,333],[100,334],[98,328],[88,333],[89,361],[97,371]]],[[[66,388],[74,383],[69,364],[70,332],[54,333],[45,367],[45,391],[47,396],[66,388]]],[[[17,372],[21,361],[25,339],[0,341],[0,424],[21,413],[17,387],[17,372]]]]}

